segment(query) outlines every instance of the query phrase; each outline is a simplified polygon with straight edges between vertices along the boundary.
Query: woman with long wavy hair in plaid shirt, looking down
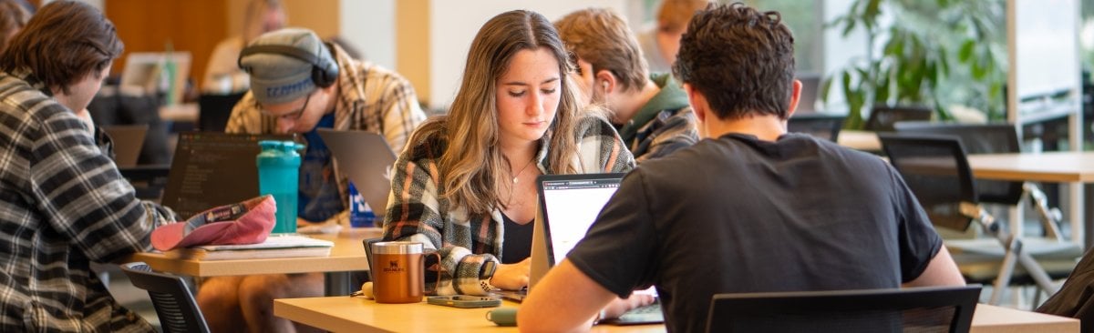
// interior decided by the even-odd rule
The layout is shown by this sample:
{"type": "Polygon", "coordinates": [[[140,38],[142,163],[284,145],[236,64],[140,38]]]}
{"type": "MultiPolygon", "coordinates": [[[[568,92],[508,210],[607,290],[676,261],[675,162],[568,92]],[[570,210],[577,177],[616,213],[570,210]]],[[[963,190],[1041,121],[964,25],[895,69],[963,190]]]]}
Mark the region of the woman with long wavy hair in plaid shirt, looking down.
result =
{"type": "Polygon", "coordinates": [[[583,109],[568,59],[543,15],[490,19],[472,41],[449,115],[430,118],[399,155],[384,240],[441,253],[441,282],[427,289],[527,286],[536,177],[633,167],[600,110],[583,109]]]}

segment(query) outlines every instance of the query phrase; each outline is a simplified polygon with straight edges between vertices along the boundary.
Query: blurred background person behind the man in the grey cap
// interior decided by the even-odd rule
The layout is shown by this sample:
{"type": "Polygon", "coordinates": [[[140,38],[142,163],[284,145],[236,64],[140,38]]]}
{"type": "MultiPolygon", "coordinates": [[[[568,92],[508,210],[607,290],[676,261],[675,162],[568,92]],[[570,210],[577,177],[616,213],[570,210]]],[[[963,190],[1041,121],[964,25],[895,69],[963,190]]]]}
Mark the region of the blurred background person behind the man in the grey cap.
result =
{"type": "Polygon", "coordinates": [[[259,35],[284,27],[287,20],[281,0],[248,1],[243,16],[243,35],[221,40],[213,48],[201,80],[201,91],[219,95],[246,91],[251,78],[236,62],[240,51],[259,35]]]}

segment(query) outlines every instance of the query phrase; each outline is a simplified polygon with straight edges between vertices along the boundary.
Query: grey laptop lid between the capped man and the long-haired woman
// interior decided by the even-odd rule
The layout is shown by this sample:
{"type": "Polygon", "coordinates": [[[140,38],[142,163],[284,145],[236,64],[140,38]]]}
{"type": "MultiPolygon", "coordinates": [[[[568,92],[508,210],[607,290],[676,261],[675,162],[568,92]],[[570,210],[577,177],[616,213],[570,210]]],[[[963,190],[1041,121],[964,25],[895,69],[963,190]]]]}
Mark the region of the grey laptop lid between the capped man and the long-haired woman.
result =
{"type": "Polygon", "coordinates": [[[384,217],[392,192],[395,152],[381,134],[365,131],[318,129],[319,138],[335,156],[339,170],[369,203],[377,219],[384,217]]]}

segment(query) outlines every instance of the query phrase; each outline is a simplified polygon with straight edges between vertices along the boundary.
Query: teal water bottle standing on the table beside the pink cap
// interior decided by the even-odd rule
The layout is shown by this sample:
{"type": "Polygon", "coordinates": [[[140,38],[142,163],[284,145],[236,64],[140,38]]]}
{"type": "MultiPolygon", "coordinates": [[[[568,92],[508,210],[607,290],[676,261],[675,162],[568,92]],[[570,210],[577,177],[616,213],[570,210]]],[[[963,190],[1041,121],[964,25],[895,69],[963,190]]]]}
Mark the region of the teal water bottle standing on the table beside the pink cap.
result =
{"type": "Polygon", "coordinates": [[[272,234],[296,233],[296,187],[300,178],[300,154],[304,145],[292,141],[259,141],[263,152],[258,165],[258,193],[271,194],[277,201],[277,224],[272,234]]]}

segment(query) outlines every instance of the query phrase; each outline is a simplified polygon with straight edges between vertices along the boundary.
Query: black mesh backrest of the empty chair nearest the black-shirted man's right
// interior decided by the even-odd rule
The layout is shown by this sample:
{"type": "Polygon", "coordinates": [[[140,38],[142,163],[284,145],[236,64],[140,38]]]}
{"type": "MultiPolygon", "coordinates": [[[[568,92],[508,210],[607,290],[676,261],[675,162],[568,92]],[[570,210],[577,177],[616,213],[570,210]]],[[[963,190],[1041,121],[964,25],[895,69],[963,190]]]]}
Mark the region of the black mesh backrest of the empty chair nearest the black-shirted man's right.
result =
{"type": "Polygon", "coordinates": [[[976,183],[957,136],[878,133],[889,163],[939,227],[965,230],[973,218],[962,203],[976,204],[976,183]]]}

